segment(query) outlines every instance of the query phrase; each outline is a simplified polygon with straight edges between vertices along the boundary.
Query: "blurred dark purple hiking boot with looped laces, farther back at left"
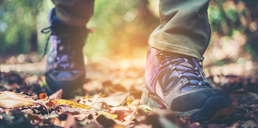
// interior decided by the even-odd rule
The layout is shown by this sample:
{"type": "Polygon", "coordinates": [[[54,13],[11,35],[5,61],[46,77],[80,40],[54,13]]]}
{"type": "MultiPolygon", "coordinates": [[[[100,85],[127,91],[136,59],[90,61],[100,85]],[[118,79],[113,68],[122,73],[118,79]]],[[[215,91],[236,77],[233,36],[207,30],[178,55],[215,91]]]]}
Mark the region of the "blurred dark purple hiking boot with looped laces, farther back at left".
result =
{"type": "Polygon", "coordinates": [[[46,61],[47,91],[52,94],[63,89],[65,95],[83,86],[85,80],[85,65],[83,60],[83,45],[88,30],[85,26],[69,26],[60,21],[52,9],[48,15],[50,27],[42,33],[49,33],[44,55],[50,40],[50,49],[46,61]]]}

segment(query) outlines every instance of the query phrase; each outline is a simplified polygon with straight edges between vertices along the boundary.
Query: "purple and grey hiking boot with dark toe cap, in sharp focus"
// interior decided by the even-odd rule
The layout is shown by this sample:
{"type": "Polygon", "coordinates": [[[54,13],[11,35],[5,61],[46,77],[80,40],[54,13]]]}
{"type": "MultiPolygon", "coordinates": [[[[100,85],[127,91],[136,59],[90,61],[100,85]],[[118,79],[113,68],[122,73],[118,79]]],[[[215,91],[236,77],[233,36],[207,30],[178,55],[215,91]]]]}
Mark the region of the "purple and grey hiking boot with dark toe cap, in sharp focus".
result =
{"type": "Polygon", "coordinates": [[[141,103],[169,108],[192,122],[232,113],[228,94],[210,86],[197,58],[148,48],[141,103]],[[222,112],[223,111],[223,112],[222,112]]]}

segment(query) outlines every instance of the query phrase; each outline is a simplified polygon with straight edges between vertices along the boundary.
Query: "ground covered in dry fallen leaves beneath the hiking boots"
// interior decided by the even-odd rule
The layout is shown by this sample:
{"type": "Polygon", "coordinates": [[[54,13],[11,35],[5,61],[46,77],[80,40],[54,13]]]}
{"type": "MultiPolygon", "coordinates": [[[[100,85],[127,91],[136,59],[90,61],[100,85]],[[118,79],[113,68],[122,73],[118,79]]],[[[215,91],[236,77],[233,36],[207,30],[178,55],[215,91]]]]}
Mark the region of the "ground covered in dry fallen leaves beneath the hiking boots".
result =
{"type": "MultiPolygon", "coordinates": [[[[1,73],[1,72],[0,72],[1,73]]],[[[5,127],[243,127],[258,123],[257,79],[220,76],[223,84],[213,83],[229,93],[238,109],[226,120],[191,123],[190,115],[179,117],[169,109],[140,105],[143,69],[87,67],[87,81],[79,92],[84,96],[62,99],[60,89],[46,94],[45,80],[29,73],[1,73],[0,128],[5,127]]],[[[213,76],[209,77],[213,81],[213,76]]]]}

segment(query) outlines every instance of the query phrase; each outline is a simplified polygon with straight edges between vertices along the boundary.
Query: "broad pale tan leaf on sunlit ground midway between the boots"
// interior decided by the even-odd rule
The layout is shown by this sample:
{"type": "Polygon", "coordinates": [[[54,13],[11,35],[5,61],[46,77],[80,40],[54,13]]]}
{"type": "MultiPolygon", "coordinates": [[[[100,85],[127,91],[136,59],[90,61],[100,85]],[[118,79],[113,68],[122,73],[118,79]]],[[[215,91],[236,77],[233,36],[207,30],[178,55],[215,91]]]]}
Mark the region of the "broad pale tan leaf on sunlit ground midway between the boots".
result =
{"type": "Polygon", "coordinates": [[[107,105],[116,107],[118,105],[121,105],[127,96],[129,96],[129,93],[116,92],[109,95],[108,97],[105,97],[104,101],[107,102],[107,105]]]}

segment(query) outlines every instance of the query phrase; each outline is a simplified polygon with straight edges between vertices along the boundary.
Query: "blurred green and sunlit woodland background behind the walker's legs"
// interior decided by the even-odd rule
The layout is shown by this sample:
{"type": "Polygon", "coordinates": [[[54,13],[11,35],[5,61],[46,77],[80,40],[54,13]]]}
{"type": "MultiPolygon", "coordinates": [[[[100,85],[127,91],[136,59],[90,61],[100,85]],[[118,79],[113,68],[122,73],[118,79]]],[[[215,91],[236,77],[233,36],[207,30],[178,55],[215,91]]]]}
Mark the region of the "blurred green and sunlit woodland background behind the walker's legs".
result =
{"type": "MultiPolygon", "coordinates": [[[[158,0],[95,0],[87,27],[95,29],[85,45],[86,63],[143,70],[150,33],[159,25],[158,0]],[[86,57],[87,55],[87,57],[86,57]]],[[[50,0],[0,0],[0,71],[44,71],[50,0]]],[[[213,76],[255,77],[258,74],[258,1],[211,0],[212,27],[204,71],[213,76]]]]}

